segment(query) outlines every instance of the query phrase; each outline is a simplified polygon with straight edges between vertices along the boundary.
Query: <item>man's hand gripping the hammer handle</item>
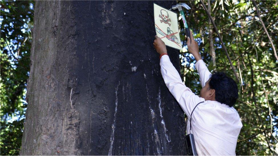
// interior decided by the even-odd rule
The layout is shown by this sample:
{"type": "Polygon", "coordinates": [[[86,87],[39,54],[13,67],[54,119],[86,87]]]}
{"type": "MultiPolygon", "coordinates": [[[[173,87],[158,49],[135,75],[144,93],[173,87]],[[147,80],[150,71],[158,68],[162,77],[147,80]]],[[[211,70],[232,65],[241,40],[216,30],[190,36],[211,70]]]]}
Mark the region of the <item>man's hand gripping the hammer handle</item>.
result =
{"type": "Polygon", "coordinates": [[[195,57],[196,61],[199,61],[202,59],[202,57],[199,53],[198,43],[194,40],[194,37],[193,37],[193,34],[191,31],[190,31],[190,38],[187,37],[187,47],[188,47],[189,53],[191,53],[195,57]]]}

